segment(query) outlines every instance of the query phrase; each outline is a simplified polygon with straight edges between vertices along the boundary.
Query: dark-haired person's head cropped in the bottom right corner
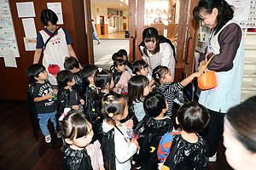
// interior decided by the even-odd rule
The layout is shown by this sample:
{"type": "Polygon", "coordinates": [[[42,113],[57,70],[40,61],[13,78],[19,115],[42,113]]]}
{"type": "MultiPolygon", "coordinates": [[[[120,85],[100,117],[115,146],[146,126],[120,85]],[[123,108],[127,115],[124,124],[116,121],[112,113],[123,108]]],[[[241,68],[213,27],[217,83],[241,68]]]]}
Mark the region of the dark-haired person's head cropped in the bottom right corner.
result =
{"type": "Polygon", "coordinates": [[[237,170],[256,167],[256,96],[231,108],[224,118],[225,156],[237,170]]]}

